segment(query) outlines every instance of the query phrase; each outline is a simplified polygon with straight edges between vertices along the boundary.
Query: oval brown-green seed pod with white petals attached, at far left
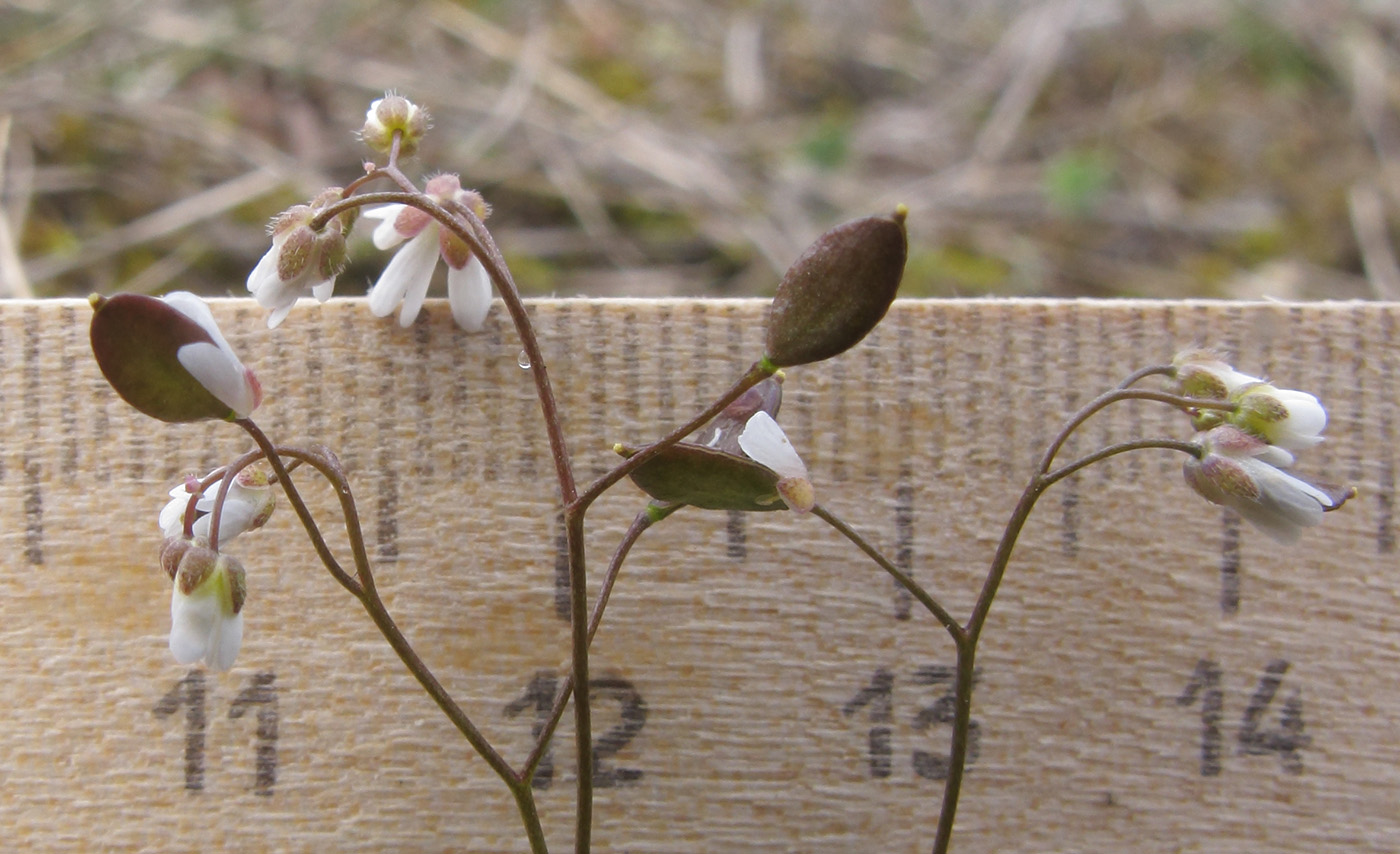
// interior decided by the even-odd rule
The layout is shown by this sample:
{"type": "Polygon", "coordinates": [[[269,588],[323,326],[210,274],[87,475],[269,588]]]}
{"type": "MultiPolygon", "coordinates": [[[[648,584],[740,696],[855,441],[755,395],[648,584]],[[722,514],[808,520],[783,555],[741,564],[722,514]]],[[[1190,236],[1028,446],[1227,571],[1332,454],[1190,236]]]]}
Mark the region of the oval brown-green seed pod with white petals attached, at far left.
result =
{"type": "Polygon", "coordinates": [[[123,400],[162,421],[244,419],[262,386],[195,294],[92,295],[90,339],[102,375],[123,400]]]}

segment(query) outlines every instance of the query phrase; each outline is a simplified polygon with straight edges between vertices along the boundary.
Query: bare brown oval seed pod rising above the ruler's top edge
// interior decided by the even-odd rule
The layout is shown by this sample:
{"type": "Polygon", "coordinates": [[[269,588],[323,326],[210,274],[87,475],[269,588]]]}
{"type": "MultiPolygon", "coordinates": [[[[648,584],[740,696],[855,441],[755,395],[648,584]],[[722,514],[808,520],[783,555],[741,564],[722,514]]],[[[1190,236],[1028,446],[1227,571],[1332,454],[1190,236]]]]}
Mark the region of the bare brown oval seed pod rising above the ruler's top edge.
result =
{"type": "Polygon", "coordinates": [[[778,367],[822,361],[874,329],[899,290],[909,241],[907,209],[827,231],[798,258],[769,308],[767,360],[778,367]]]}

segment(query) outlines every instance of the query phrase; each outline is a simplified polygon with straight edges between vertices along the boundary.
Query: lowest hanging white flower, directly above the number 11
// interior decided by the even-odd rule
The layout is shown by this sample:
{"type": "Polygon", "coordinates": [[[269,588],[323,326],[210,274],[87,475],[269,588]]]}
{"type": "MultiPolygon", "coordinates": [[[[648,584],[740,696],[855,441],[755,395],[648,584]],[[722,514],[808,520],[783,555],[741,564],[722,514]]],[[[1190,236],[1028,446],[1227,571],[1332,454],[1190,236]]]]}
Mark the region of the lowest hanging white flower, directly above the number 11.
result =
{"type": "Polygon", "coordinates": [[[171,591],[171,654],[179,664],[204,661],[216,671],[234,666],[244,641],[244,567],[227,554],[190,549],[171,591]]]}

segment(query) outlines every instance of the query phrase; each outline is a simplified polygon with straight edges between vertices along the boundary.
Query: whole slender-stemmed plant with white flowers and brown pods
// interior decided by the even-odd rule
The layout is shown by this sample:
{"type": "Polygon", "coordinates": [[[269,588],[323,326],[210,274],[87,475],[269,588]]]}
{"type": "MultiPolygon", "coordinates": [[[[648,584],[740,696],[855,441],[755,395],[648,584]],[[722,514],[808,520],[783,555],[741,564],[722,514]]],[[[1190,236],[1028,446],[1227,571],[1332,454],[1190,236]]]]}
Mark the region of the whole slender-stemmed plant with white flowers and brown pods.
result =
{"type": "Polygon", "coordinates": [[[172,584],[169,645],[175,659],[204,661],[214,669],[234,664],[242,640],[244,608],[256,602],[258,568],[251,564],[249,573],[225,547],[267,521],[273,511],[272,490],[280,489],[330,575],[360,602],[409,672],[510,791],[536,854],[547,851],[549,843],[532,784],[570,706],[577,756],[574,846],[578,851],[589,850],[595,788],[589,644],[631,546],[683,507],[731,512],[791,510],[819,519],[893,577],[952,638],[956,647],[948,713],[952,739],[946,757],[941,757],[946,763],[945,788],[932,830],[932,850],[942,853],[951,844],[972,749],[979,641],[1021,531],[1051,486],[1121,454],[1176,452],[1184,455],[1184,479],[1191,489],[1281,542],[1295,540],[1351,496],[1350,489],[1316,486],[1288,470],[1296,454],[1322,441],[1327,417],[1315,396],[1243,374],[1218,354],[1187,350],[1168,364],[1131,374],[1065,420],[1012,511],[970,613],[955,616],[910,573],[818,501],[813,475],[777,419],[784,368],[840,356],[885,316],[907,255],[903,207],[820,235],[784,274],[767,314],[764,351],[735,384],[665,435],[616,445],[622,461],[595,480],[581,483],[536,330],[483,224],[489,213],[484,200],[462,189],[455,175],[438,175],[420,189],[399,165],[402,157],[417,148],[426,130],[426,112],[403,98],[391,95],[371,105],[363,139],[385,162],[368,164],[365,174],[349,186],[326,190],[274,218],[272,248],[249,276],[248,290],[270,311],[269,326],[286,321],[302,295],[329,298],[344,263],[354,214],[365,209],[367,218],[378,221],[374,244],[381,249],[398,246],[370,293],[374,315],[388,316],[398,309],[399,323],[412,325],[423,309],[440,258],[448,266],[452,316],[465,330],[480,329],[493,305],[493,287],[500,295],[519,336],[521,364],[531,371],[552,451],[568,581],[570,673],[550,700],[522,762],[508,760],[486,736],[389,613],[375,587],[350,479],[336,455],[321,445],[273,444],[253,423],[260,386],[196,297],[95,298],[92,350],[118,393],[143,413],[167,421],[230,420],[255,445],[204,477],[178,484],[160,514],[165,536],[161,566],[172,584]],[[388,182],[395,189],[367,192],[372,182],[388,182]],[[1148,386],[1152,381],[1156,388],[1148,386]],[[1109,406],[1128,400],[1179,412],[1190,438],[1131,438],[1068,462],[1060,459],[1075,431],[1109,406]],[[295,486],[294,469],[309,469],[335,487],[353,567],[342,566],[332,554],[295,486]],[[591,599],[585,522],[595,501],[623,479],[636,483],[650,501],[616,545],[596,598],[591,599]]]}

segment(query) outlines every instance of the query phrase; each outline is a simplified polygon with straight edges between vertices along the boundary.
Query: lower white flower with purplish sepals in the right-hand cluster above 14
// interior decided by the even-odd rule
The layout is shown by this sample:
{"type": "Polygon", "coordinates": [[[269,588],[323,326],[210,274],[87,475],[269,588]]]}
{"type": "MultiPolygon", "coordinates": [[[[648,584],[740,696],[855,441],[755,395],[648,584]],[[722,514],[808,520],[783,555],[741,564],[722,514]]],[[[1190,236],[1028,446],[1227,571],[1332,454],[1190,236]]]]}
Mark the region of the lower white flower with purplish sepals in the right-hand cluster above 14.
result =
{"type": "Polygon", "coordinates": [[[1292,455],[1238,427],[1215,427],[1197,441],[1204,452],[1183,466],[1186,483],[1281,543],[1296,542],[1303,528],[1345,501],[1278,469],[1292,455]]]}

